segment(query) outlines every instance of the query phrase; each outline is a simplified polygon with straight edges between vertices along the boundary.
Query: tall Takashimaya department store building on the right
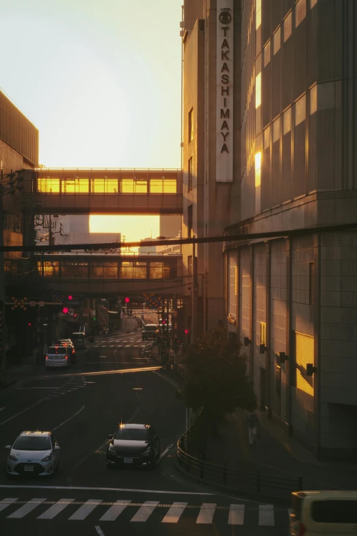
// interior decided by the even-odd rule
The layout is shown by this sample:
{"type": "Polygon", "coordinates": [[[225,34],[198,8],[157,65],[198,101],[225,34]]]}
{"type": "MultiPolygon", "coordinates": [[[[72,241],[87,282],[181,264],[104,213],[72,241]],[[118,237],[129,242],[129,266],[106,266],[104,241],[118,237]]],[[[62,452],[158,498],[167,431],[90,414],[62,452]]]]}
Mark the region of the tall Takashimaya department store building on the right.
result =
{"type": "Polygon", "coordinates": [[[183,232],[227,237],[197,248],[205,327],[287,433],[356,457],[356,2],[187,0],[183,27],[183,232]]]}

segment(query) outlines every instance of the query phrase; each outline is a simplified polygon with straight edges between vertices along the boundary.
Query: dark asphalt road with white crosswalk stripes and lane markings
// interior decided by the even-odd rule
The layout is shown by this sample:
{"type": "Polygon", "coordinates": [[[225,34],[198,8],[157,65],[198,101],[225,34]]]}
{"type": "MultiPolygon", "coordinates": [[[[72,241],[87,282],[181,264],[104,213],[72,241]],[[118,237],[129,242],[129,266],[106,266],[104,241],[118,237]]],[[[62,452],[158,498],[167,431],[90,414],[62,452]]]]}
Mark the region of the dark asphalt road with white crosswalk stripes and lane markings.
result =
{"type": "MultiPolygon", "coordinates": [[[[146,322],[153,322],[148,316],[146,322]]],[[[286,535],[285,507],[229,498],[187,480],[173,465],[185,407],[157,366],[143,357],[141,333],[105,337],[67,371],[40,371],[0,398],[0,437],[51,430],[61,446],[55,479],[8,480],[1,452],[0,533],[28,536],[286,535]],[[138,372],[124,370],[138,369],[138,372]],[[107,435],[120,422],[153,424],[161,438],[154,470],[107,470],[107,435]],[[144,524],[144,526],[142,526],[144,524]]]]}

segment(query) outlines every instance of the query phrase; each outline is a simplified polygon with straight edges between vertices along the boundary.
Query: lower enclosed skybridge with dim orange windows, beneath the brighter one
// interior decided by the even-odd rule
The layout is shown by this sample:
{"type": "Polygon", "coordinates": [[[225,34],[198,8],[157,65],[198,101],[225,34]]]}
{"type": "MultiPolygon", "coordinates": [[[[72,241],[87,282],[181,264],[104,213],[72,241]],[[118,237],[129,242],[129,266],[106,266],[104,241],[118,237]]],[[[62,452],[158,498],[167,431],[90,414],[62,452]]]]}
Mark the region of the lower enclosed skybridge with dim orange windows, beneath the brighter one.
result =
{"type": "Polygon", "coordinates": [[[182,255],[68,253],[36,255],[35,259],[6,259],[5,281],[16,288],[21,280],[53,293],[86,296],[148,294],[172,296],[182,292],[182,255]],[[29,273],[31,275],[29,275],[29,273]]]}

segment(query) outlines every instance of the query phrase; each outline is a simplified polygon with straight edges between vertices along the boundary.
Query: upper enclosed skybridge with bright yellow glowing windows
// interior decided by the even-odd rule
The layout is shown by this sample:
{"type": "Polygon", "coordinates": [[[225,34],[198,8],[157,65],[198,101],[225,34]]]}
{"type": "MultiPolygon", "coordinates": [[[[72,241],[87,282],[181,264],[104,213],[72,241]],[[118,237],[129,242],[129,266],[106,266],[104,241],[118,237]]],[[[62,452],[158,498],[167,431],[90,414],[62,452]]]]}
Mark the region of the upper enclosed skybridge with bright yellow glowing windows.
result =
{"type": "Polygon", "coordinates": [[[23,190],[38,214],[182,214],[178,169],[23,170],[23,190]]]}

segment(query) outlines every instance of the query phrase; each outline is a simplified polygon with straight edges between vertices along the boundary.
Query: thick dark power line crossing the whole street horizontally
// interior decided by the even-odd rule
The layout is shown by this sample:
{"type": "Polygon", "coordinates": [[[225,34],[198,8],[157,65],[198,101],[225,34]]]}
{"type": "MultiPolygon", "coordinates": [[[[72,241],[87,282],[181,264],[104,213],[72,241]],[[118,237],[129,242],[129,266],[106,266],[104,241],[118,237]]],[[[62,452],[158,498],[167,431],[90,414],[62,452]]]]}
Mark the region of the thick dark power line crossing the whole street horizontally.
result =
{"type": "MultiPolygon", "coordinates": [[[[282,238],[294,236],[309,235],[315,233],[331,233],[334,231],[348,231],[357,229],[357,223],[344,223],[341,225],[323,225],[321,227],[305,227],[304,229],[289,229],[282,231],[269,231],[267,233],[239,233],[229,234],[226,232],[224,235],[208,236],[202,238],[172,238],[170,240],[155,240],[155,246],[168,246],[170,244],[211,244],[214,242],[242,242],[245,240],[259,240],[269,238],[282,238]]],[[[103,248],[127,248],[138,246],[153,246],[151,240],[140,240],[139,242],[96,242],[96,243],[82,243],[82,244],[55,244],[54,246],[1,246],[0,251],[64,251],[68,250],[68,245],[71,249],[103,249],[103,248]]]]}

